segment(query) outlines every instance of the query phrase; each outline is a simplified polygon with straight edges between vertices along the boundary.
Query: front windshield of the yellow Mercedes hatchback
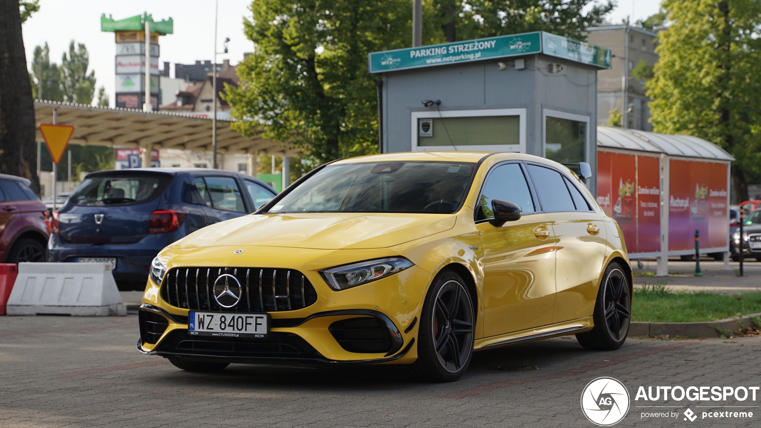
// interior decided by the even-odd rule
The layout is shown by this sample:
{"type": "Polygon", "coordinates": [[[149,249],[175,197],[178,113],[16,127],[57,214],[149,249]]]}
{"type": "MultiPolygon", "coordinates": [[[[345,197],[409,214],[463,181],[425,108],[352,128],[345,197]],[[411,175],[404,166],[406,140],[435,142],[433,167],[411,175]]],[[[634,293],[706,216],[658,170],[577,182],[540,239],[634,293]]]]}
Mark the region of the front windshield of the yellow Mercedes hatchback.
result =
{"type": "Polygon", "coordinates": [[[465,197],[475,166],[475,163],[450,162],[326,166],[268,212],[451,214],[465,197]]]}

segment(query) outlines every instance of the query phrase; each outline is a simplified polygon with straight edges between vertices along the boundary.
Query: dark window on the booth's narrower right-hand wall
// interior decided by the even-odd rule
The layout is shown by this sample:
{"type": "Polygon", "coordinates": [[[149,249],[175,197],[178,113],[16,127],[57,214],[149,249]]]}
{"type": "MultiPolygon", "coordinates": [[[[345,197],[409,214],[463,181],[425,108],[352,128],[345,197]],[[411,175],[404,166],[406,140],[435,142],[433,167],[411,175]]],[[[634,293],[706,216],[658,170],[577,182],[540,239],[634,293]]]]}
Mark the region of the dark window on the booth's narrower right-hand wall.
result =
{"type": "Polygon", "coordinates": [[[560,163],[584,162],[587,122],[546,116],[544,156],[560,163]]]}

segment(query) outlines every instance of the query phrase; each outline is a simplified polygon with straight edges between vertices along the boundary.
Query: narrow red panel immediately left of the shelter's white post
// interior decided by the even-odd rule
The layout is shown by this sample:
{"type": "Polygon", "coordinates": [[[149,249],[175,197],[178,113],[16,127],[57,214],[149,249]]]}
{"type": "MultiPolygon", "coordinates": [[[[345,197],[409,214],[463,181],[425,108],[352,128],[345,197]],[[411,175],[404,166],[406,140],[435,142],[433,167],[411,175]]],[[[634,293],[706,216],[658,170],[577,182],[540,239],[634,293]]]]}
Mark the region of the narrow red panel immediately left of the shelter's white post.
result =
{"type": "MultiPolygon", "coordinates": [[[[661,251],[661,159],[637,157],[637,251],[661,251]]],[[[628,243],[627,243],[628,245],[628,243]]]]}

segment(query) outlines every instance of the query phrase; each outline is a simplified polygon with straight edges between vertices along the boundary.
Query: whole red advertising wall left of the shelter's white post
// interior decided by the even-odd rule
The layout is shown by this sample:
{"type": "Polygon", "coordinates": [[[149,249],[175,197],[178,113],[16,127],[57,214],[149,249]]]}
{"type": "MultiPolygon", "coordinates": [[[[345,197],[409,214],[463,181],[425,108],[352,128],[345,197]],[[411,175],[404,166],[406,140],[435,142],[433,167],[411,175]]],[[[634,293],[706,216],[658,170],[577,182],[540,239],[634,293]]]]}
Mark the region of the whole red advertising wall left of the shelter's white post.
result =
{"type": "Polygon", "coordinates": [[[661,251],[658,157],[597,152],[597,202],[618,221],[629,254],[661,251]]]}

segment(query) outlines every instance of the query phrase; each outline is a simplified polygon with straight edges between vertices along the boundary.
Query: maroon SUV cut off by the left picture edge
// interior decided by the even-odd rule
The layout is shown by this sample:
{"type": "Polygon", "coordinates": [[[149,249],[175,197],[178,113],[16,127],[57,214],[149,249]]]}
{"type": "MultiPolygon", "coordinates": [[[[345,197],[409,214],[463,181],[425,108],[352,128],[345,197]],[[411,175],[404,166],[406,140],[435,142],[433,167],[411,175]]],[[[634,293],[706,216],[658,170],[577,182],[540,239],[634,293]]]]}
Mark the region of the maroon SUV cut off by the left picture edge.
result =
{"type": "Polygon", "coordinates": [[[0,260],[5,263],[45,262],[46,208],[29,185],[28,179],[0,174],[0,260]]]}

